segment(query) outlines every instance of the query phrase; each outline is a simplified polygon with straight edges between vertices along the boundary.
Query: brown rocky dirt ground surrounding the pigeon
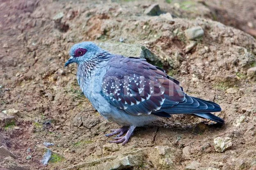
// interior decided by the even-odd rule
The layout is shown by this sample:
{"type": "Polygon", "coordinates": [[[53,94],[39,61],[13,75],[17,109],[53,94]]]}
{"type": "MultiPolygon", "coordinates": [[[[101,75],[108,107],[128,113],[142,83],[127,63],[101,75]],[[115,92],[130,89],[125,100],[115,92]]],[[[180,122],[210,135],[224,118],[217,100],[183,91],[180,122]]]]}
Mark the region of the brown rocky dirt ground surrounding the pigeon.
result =
{"type": "Polygon", "coordinates": [[[0,122],[0,145],[16,155],[0,155],[0,169],[255,170],[255,28],[255,0],[0,0],[0,112],[14,116],[0,122]],[[173,19],[144,13],[156,2],[173,19]],[[195,26],[204,34],[188,40],[195,26]],[[187,94],[218,103],[225,125],[174,115],[137,128],[124,146],[107,143],[119,126],[83,96],[76,66],[64,67],[70,47],[88,40],[126,56],[147,47],[187,94]],[[217,152],[217,137],[232,146],[217,152]],[[47,166],[44,142],[54,143],[47,166]]]}

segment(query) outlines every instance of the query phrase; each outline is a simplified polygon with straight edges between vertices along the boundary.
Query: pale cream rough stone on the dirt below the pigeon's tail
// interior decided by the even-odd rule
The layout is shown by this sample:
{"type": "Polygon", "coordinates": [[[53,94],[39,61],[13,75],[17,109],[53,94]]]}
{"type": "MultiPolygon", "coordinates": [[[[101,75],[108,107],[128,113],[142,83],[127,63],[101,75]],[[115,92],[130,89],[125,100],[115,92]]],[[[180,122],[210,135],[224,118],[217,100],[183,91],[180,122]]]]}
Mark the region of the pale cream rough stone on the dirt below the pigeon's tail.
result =
{"type": "Polygon", "coordinates": [[[213,145],[217,152],[224,152],[233,144],[232,139],[229,137],[217,137],[213,140],[213,145]]]}

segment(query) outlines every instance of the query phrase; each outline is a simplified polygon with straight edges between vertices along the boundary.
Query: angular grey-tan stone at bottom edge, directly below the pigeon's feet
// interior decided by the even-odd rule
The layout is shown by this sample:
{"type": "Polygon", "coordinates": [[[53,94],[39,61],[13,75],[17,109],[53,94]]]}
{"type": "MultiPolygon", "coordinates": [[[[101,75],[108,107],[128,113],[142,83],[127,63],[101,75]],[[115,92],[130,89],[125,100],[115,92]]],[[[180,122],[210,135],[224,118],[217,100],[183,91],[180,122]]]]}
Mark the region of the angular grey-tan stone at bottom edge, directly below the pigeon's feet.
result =
{"type": "Polygon", "coordinates": [[[142,164],[142,155],[128,155],[120,159],[116,159],[112,162],[110,170],[121,170],[132,168],[133,166],[139,166],[142,164]]]}

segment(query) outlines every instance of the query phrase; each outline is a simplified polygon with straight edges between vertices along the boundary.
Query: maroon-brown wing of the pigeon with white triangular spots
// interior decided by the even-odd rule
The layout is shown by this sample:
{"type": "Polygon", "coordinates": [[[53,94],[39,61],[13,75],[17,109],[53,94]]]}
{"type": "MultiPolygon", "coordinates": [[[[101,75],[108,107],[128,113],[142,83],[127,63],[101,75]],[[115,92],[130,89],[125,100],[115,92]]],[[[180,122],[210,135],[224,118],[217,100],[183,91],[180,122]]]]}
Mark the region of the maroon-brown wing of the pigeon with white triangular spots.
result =
{"type": "Polygon", "coordinates": [[[151,114],[165,103],[171,107],[185,100],[178,81],[142,58],[114,56],[102,82],[102,94],[128,114],[151,114]]]}

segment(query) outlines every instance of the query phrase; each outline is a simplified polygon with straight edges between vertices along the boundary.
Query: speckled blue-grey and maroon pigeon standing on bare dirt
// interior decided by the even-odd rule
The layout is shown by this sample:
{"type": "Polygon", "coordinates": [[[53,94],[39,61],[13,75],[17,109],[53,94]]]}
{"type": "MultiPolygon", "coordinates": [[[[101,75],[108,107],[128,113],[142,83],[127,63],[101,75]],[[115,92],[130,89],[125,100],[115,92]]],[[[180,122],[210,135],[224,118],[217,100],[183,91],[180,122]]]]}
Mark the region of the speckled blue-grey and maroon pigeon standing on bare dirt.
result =
{"type": "Polygon", "coordinates": [[[93,42],[75,44],[69,54],[65,66],[78,64],[77,80],[82,92],[105,119],[122,126],[106,134],[117,134],[111,143],[127,143],[137,126],[159,116],[192,114],[224,123],[210,113],[220,112],[219,105],[189,96],[177,80],[145,59],[114,55],[93,42]]]}

